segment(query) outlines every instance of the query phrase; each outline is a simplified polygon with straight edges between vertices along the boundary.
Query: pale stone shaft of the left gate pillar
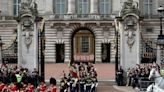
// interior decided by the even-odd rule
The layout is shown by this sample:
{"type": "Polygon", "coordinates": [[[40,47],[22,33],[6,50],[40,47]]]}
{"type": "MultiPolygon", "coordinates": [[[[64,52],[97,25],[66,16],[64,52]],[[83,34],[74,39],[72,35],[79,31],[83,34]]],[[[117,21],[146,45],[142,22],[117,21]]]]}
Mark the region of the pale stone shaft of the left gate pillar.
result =
{"type": "Polygon", "coordinates": [[[18,24],[18,65],[33,71],[38,68],[38,30],[36,23],[33,29],[24,29],[18,24]]]}

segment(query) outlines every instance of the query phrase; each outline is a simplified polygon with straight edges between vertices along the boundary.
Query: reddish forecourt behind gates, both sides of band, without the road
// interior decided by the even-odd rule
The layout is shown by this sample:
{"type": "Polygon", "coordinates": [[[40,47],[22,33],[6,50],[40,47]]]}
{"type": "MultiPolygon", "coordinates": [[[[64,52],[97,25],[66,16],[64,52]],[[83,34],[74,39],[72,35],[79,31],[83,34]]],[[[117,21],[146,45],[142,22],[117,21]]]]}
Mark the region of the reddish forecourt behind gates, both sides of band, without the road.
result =
{"type": "MultiPolygon", "coordinates": [[[[115,65],[114,64],[94,64],[98,73],[99,80],[114,80],[115,79],[115,65]]],[[[48,63],[45,65],[45,78],[55,77],[59,79],[62,71],[68,73],[68,64],[54,64],[48,63]]]]}

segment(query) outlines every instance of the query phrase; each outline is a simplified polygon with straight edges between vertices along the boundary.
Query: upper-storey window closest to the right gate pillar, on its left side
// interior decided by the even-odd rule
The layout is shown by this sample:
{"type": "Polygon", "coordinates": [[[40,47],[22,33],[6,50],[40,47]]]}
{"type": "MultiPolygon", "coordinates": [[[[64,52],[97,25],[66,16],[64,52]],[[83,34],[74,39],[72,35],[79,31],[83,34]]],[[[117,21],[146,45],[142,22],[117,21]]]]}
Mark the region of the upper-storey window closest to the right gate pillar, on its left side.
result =
{"type": "Polygon", "coordinates": [[[99,1],[100,6],[100,14],[110,14],[111,13],[111,7],[112,7],[112,0],[100,0],[99,1]]]}

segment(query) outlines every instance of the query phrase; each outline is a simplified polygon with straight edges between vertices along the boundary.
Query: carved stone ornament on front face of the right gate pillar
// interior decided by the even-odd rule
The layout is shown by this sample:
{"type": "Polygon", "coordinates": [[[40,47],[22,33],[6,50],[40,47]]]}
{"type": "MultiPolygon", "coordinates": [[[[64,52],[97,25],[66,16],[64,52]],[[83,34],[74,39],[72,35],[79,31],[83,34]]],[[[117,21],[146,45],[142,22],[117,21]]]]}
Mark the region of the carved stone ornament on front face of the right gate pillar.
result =
{"type": "Polygon", "coordinates": [[[126,31],[127,44],[131,50],[135,42],[135,31],[137,29],[137,19],[134,16],[128,16],[124,19],[124,30],[126,31]]]}

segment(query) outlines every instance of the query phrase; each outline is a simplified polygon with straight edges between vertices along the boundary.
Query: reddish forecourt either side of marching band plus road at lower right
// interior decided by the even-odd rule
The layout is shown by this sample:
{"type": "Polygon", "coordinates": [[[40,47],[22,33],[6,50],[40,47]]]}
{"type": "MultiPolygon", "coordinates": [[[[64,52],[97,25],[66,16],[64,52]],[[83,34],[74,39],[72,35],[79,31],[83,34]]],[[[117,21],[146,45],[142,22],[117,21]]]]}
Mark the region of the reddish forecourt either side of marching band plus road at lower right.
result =
{"type": "MultiPolygon", "coordinates": [[[[116,86],[115,83],[115,64],[94,64],[98,73],[98,80],[101,82],[98,85],[97,92],[138,92],[131,87],[116,86]]],[[[68,64],[46,64],[45,77],[55,77],[60,79],[62,71],[68,73],[68,64]]]]}

